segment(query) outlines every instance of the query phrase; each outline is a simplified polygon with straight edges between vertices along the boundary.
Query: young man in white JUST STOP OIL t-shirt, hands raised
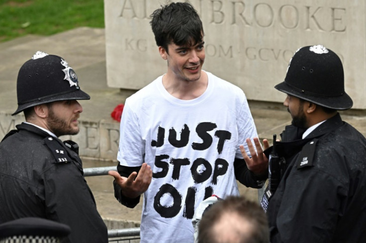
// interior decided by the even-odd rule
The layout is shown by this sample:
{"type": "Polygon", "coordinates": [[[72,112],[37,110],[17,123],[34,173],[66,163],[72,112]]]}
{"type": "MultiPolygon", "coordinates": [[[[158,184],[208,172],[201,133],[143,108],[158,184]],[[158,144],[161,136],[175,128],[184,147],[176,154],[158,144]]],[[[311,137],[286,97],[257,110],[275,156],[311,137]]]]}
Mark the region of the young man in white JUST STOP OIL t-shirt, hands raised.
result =
{"type": "Polygon", "coordinates": [[[168,71],[126,100],[119,174],[109,174],[123,205],[134,207],[144,193],[141,242],[189,243],[199,202],[237,195],[235,178],[263,186],[268,164],[245,164],[239,145],[257,136],[256,127],[243,91],[201,69],[204,34],[196,10],[170,3],[151,17],[168,71]]]}

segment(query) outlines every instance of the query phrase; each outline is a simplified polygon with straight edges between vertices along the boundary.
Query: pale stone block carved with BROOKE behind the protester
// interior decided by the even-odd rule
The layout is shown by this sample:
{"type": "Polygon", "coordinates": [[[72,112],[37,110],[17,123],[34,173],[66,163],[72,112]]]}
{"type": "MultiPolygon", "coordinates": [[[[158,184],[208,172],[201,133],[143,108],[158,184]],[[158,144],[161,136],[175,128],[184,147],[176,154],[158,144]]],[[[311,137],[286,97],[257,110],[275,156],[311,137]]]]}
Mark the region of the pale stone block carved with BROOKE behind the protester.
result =
{"type": "MultiPolygon", "coordinates": [[[[190,0],[205,32],[203,69],[249,100],[282,102],[275,91],[300,47],[324,45],[344,64],[346,92],[366,109],[365,0],[190,0]]],[[[165,73],[150,14],[166,0],[104,0],[107,84],[137,90],[165,73]]],[[[329,87],[332,88],[332,87],[329,87]]]]}

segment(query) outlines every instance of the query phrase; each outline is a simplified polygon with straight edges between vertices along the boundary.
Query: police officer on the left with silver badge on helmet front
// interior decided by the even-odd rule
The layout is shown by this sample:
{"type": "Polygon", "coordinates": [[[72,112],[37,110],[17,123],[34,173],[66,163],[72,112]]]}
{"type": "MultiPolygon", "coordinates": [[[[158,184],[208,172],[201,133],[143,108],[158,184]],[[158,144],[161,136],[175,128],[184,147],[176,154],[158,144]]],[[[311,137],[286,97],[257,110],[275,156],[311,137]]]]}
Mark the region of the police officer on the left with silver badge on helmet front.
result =
{"type": "Polygon", "coordinates": [[[84,179],[78,146],[61,135],[79,132],[90,96],[67,61],[37,52],[19,70],[18,108],[25,121],[0,143],[0,223],[38,217],[68,225],[63,242],[104,243],[107,229],[84,179]]]}

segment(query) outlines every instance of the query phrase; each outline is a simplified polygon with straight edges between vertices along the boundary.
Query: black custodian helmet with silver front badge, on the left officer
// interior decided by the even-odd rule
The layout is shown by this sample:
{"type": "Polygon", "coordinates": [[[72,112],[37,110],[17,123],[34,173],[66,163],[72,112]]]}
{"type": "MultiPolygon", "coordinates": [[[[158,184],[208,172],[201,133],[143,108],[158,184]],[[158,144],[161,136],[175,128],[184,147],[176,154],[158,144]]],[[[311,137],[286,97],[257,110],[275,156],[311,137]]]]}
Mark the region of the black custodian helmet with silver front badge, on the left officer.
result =
{"type": "Polygon", "coordinates": [[[16,93],[18,109],[12,115],[53,101],[90,99],[80,89],[78,76],[64,59],[40,51],[20,67],[16,93]]]}

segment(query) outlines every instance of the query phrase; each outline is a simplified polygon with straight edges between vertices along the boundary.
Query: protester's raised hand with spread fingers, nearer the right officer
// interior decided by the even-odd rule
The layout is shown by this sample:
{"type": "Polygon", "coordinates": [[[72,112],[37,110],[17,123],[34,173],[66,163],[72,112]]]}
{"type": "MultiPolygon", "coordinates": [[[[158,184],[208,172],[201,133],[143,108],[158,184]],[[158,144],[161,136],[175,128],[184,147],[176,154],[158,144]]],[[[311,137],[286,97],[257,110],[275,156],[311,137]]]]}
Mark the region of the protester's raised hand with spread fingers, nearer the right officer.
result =
{"type": "MultiPolygon", "coordinates": [[[[256,145],[256,149],[254,148],[252,141],[250,138],[246,139],[246,142],[248,144],[249,152],[252,156],[252,158],[249,158],[247,152],[245,151],[245,148],[243,145],[240,145],[240,151],[242,152],[242,155],[244,157],[245,163],[247,164],[247,167],[250,171],[252,171],[255,175],[262,175],[267,173],[268,171],[268,158],[263,153],[262,145],[258,139],[258,137],[255,137],[254,144],[256,145]]],[[[267,139],[263,139],[263,144],[265,147],[265,150],[270,147],[270,144],[268,143],[267,139]]]]}

